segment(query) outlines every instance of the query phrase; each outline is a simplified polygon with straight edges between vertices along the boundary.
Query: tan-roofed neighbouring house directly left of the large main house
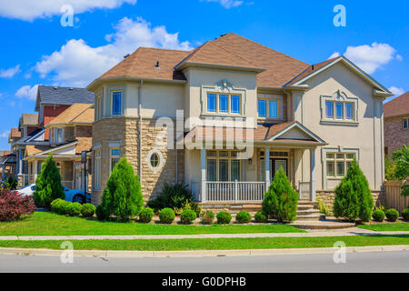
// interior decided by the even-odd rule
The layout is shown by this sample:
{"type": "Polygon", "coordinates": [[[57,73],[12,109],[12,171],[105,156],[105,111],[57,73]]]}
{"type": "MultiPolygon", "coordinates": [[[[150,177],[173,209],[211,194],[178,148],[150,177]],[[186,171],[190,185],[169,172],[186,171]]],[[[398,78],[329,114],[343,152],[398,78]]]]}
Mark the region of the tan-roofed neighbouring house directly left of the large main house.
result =
{"type": "MultiPolygon", "coordinates": [[[[41,172],[42,163],[53,154],[56,166],[60,170],[63,186],[84,190],[89,179],[85,177],[81,153],[89,152],[92,147],[92,123],[94,105],[74,104],[45,125],[49,131],[47,145],[25,146],[24,160],[28,164],[28,183],[35,183],[41,172]]],[[[92,165],[88,162],[90,169],[92,165]]]]}

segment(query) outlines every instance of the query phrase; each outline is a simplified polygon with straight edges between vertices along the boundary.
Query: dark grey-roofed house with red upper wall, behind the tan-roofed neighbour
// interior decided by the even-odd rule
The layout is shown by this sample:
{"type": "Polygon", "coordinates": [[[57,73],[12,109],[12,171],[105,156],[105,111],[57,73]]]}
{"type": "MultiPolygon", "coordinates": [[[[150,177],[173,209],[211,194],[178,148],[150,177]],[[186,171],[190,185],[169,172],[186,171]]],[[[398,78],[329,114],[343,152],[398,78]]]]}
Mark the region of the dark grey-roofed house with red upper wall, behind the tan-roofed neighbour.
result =
{"type": "Polygon", "coordinates": [[[56,116],[75,103],[93,104],[94,95],[84,88],[38,86],[35,101],[35,111],[38,114],[22,115],[19,124],[21,138],[10,143],[16,156],[18,186],[25,186],[29,182],[28,164],[23,160],[25,147],[48,146],[49,130],[45,125],[48,125],[56,116]]]}

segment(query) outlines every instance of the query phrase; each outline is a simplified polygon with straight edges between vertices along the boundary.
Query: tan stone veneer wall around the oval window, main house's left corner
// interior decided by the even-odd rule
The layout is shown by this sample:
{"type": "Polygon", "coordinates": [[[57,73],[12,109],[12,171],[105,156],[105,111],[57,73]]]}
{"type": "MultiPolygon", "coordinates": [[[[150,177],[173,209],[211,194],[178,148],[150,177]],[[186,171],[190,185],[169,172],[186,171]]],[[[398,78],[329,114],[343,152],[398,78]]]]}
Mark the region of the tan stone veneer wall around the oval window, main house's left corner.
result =
{"type": "MultiPolygon", "coordinates": [[[[156,127],[156,119],[142,121],[142,194],[145,202],[158,196],[164,183],[175,183],[175,149],[167,149],[166,128],[156,127]],[[163,136],[163,138],[160,138],[163,136]],[[148,166],[146,157],[149,152],[158,148],[165,165],[157,173],[148,166]]],[[[93,190],[93,204],[101,202],[101,196],[109,178],[109,143],[120,144],[121,156],[134,166],[139,175],[139,118],[109,117],[95,122],[93,125],[93,146],[101,145],[101,189],[93,190]]],[[[178,182],[184,180],[184,151],[178,151],[178,182]]],[[[94,184],[93,184],[94,185],[94,184]]]]}

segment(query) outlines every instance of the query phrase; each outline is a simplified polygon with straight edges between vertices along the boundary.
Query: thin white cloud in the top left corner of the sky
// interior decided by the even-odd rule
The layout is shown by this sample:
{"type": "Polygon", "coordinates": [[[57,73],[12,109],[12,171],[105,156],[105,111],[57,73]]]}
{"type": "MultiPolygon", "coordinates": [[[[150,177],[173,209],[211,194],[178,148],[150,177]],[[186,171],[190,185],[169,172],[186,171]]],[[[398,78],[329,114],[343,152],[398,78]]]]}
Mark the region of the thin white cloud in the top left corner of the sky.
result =
{"type": "Polygon", "coordinates": [[[135,5],[136,0],[0,0],[0,16],[33,21],[62,15],[62,5],[72,5],[74,14],[81,14],[98,8],[116,8],[124,3],[135,5]]]}

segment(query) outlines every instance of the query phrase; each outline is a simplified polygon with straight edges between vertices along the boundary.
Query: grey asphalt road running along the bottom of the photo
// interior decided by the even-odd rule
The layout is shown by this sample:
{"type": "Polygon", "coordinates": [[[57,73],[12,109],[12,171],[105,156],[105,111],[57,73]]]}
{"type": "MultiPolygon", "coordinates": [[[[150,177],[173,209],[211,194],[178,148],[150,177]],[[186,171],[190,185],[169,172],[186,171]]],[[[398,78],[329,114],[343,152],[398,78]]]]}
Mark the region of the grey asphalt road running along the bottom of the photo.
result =
{"type": "Polygon", "coordinates": [[[136,273],[288,273],[288,272],[404,272],[409,252],[349,253],[346,263],[335,264],[333,254],[277,256],[216,256],[168,258],[0,256],[0,272],[136,272],[136,273]]]}

